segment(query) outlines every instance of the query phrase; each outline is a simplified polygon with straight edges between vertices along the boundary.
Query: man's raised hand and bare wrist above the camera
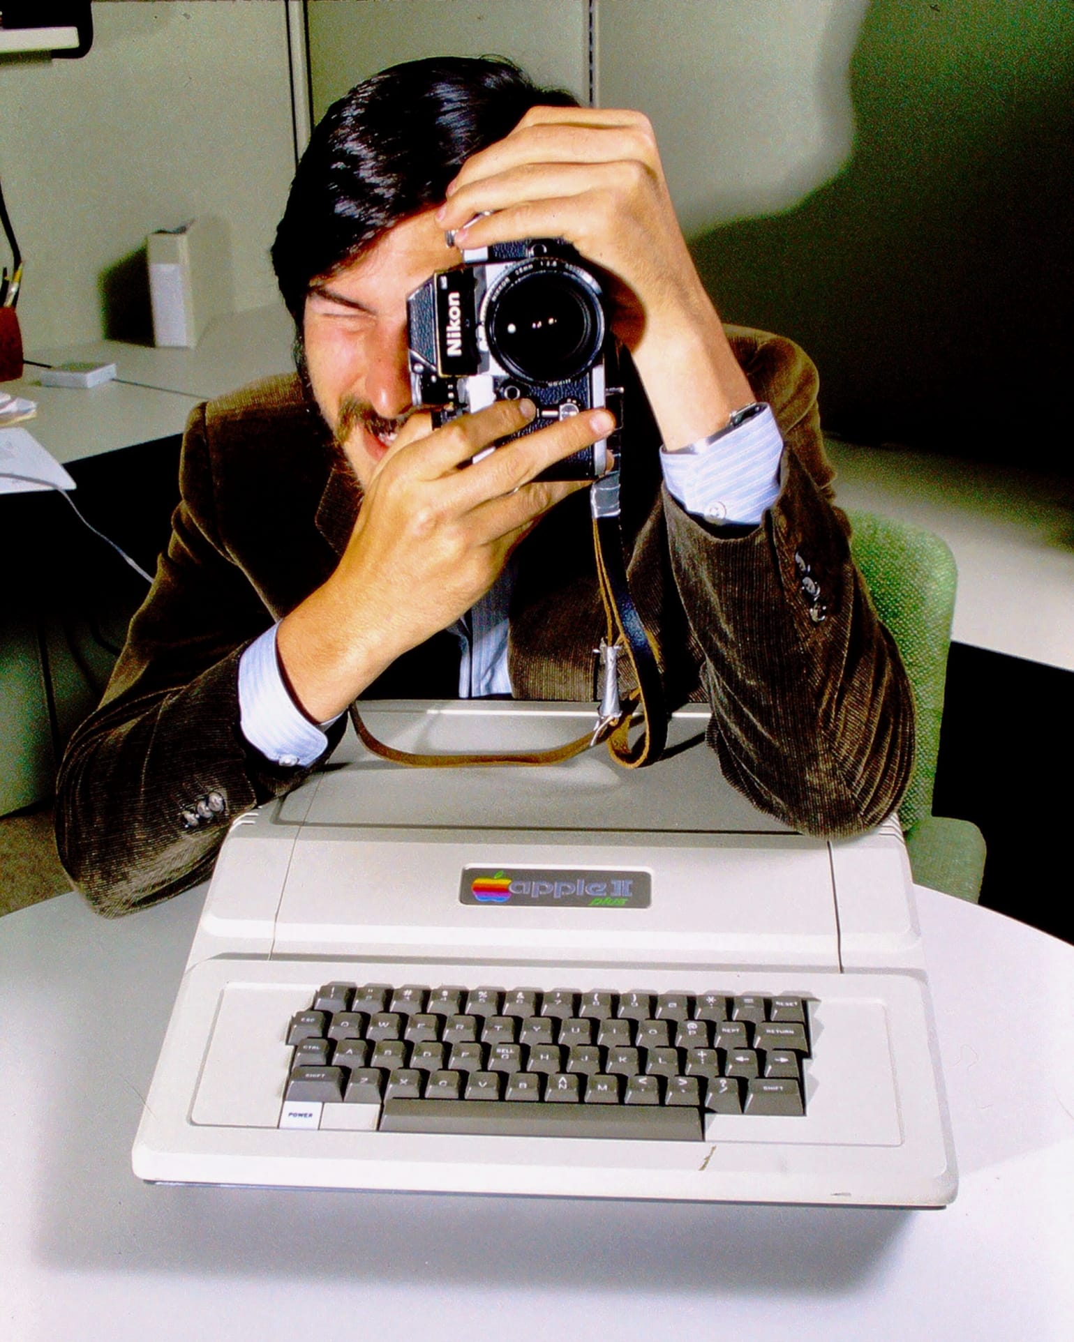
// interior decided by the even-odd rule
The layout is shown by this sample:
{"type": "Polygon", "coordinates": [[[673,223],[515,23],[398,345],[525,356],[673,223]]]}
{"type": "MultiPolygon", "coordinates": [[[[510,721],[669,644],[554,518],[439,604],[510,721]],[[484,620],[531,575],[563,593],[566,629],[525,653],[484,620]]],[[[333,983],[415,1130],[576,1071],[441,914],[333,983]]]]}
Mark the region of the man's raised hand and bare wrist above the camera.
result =
{"type": "Polygon", "coordinates": [[[694,268],[642,113],[533,107],[467,160],[436,217],[460,248],[564,238],[599,267],[614,330],[634,356],[666,447],[713,432],[753,399],[694,268]]]}

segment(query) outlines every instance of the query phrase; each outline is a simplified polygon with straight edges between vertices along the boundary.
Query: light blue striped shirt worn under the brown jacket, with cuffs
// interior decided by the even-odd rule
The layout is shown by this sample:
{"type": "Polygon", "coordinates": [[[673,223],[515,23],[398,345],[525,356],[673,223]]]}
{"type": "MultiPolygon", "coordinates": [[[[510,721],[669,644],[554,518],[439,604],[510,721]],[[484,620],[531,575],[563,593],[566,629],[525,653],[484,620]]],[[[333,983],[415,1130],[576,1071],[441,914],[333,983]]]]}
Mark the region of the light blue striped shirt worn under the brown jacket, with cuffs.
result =
{"type": "MultiPolygon", "coordinates": [[[[679,452],[661,450],[661,466],[669,493],[687,513],[707,522],[756,526],[779,497],[781,455],[779,425],[767,407],[716,443],[679,452]]],[[[514,566],[509,564],[485,596],[451,625],[462,646],[460,699],[511,692],[507,609],[513,589],[514,566]]],[[[310,765],[328,747],[325,733],[299,713],[283,684],[275,625],[239,659],[239,711],[246,739],[283,768],[310,765]]]]}

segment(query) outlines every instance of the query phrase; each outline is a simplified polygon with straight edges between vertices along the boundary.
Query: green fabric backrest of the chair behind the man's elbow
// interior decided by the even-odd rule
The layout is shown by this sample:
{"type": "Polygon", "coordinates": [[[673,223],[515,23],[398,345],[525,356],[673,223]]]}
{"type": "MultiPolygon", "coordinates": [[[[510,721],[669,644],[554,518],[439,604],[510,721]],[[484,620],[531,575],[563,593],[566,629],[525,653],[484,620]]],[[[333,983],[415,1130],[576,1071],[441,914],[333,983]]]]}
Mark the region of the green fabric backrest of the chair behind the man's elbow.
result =
{"type": "Polygon", "coordinates": [[[948,544],[922,526],[857,509],[847,509],[847,517],[854,561],[895,640],[914,695],[914,772],[898,811],[905,831],[932,815],[959,570],[948,544]]]}

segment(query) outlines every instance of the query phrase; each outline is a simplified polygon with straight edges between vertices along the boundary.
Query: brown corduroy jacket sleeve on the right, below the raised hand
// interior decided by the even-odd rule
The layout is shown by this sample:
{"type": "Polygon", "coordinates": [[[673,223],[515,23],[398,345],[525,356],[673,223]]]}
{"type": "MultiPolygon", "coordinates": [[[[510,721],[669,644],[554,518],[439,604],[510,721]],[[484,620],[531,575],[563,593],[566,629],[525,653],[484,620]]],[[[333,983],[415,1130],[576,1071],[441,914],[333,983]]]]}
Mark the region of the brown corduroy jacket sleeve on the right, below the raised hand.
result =
{"type": "Polygon", "coordinates": [[[898,805],[913,768],[913,696],[831,502],[816,369],[781,337],[734,341],[784,435],[781,490],[732,537],[663,493],[671,572],[730,782],[807,833],[851,835],[898,805]]]}

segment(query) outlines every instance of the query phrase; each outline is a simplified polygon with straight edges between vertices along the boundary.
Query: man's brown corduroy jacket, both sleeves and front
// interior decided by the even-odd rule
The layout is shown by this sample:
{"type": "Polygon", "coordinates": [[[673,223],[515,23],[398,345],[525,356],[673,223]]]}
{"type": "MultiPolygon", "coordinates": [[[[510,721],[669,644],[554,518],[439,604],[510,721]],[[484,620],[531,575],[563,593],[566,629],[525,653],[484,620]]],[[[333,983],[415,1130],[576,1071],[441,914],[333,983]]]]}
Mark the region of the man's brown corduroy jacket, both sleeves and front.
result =
{"type": "MultiPolygon", "coordinates": [[[[898,654],[831,503],[816,372],[781,337],[729,329],[757,400],[784,435],[783,487],[754,529],[722,531],[662,488],[640,393],[624,412],[623,525],[634,596],[669,706],[710,699],[709,741],[730,782],[795,828],[846,835],[897,805],[913,762],[898,654]]],[[[208,876],[227,824],[301,782],[239,730],[243,650],[332,573],[361,490],[297,377],[199,407],[181,501],[153,588],[101,706],[59,776],[56,837],[103,914],[208,876]],[[211,815],[189,828],[184,812],[211,815]],[[219,808],[219,809],[212,809],[219,808]]],[[[517,552],[509,670],[516,698],[592,699],[603,632],[585,491],[517,552]]],[[[454,696],[458,643],[436,635],[368,698],[454,696]]],[[[329,731],[338,743],[342,719],[329,731]]],[[[716,768],[716,761],[713,764],[716,768]]]]}

